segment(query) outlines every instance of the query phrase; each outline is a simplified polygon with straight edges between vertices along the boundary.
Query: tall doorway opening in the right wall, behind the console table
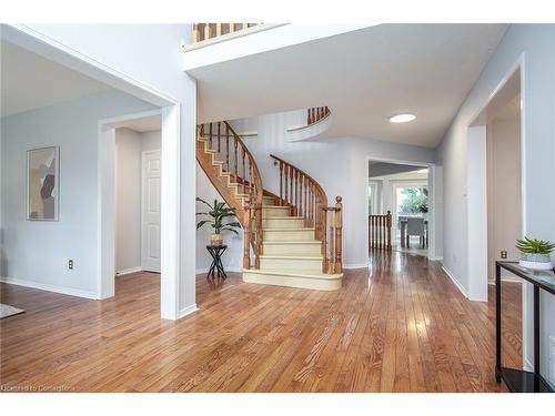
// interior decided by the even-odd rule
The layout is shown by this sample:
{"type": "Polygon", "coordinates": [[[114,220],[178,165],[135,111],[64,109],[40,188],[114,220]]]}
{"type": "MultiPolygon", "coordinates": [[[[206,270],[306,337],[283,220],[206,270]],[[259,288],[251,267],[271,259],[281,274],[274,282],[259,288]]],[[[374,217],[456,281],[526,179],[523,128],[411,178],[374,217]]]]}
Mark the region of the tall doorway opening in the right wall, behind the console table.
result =
{"type": "MultiPolygon", "coordinates": [[[[519,258],[515,243],[525,234],[522,98],[521,69],[517,69],[497,89],[471,126],[474,133],[480,132],[468,135],[468,166],[480,172],[475,180],[470,172],[468,182],[472,196],[468,199],[471,300],[495,302],[495,262],[517,262],[519,258]],[[485,221],[472,223],[471,213],[485,221]]],[[[522,280],[502,274],[501,293],[504,305],[502,337],[509,341],[503,361],[509,367],[523,368],[526,287],[522,280]]]]}

